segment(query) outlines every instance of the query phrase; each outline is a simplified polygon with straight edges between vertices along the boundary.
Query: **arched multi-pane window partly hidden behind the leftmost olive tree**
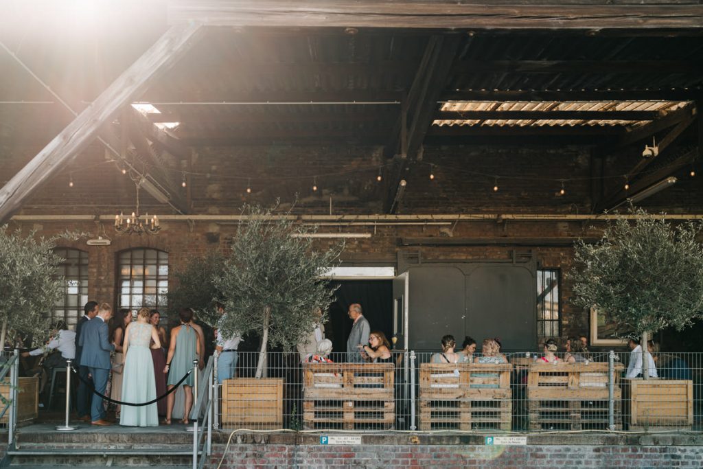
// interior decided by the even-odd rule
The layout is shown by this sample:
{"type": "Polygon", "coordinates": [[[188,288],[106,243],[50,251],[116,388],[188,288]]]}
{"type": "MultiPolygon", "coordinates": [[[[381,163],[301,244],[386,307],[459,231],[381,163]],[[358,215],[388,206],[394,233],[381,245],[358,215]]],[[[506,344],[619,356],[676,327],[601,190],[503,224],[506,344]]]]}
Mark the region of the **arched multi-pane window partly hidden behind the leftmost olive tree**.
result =
{"type": "Polygon", "coordinates": [[[51,312],[51,320],[65,321],[75,328],[83,315],[83,305],[88,302],[88,253],[72,248],[56,248],[53,252],[63,259],[56,272],[57,277],[63,278],[63,297],[51,312]]]}

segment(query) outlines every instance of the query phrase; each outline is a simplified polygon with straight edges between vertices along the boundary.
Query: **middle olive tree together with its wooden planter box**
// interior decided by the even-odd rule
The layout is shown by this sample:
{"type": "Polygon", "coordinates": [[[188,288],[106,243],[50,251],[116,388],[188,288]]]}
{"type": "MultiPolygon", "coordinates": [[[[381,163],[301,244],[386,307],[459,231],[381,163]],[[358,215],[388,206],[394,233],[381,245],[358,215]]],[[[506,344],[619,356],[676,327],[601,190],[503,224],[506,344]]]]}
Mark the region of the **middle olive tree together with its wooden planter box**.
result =
{"type": "MultiPolygon", "coordinates": [[[[275,207],[274,207],[275,208],[275,207]]],[[[221,276],[215,279],[226,314],[223,335],[254,333],[261,346],[254,378],[223,384],[223,423],[283,425],[283,379],[264,378],[269,346],[292,350],[324,320],[335,288],[320,280],[335,266],[343,245],[315,248],[314,227],[295,223],[290,212],[245,207],[221,276]],[[321,312],[320,312],[321,311],[321,312]]]]}

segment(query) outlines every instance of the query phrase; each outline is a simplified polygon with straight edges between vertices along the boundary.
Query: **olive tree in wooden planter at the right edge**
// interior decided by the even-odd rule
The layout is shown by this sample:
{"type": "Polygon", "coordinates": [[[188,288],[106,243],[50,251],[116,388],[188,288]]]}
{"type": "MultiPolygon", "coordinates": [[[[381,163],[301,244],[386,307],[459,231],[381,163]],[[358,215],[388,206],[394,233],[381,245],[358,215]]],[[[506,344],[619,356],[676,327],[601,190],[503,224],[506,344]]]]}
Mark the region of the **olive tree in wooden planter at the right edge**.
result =
{"type": "Polygon", "coordinates": [[[703,246],[698,241],[703,225],[673,226],[664,215],[641,209],[631,209],[631,215],[610,222],[598,243],[576,243],[575,302],[595,307],[640,338],[643,378],[630,380],[631,428],[690,425],[692,383],[647,380],[647,340],[662,328],[681,330],[703,315],[703,246]],[[677,396],[682,404],[673,402],[677,396]]]}

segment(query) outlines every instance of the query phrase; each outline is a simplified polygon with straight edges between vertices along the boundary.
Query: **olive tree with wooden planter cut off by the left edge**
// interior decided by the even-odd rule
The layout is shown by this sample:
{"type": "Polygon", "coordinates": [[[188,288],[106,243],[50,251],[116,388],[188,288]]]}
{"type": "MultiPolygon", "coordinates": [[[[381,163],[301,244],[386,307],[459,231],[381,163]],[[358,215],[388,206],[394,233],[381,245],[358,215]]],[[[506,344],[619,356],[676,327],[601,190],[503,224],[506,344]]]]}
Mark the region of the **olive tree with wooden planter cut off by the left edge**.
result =
{"type": "MultiPolygon", "coordinates": [[[[61,281],[56,278],[60,257],[54,254],[56,238],[22,237],[19,232],[8,233],[0,228],[0,344],[5,345],[8,334],[13,344],[18,337],[32,337],[34,343],[44,343],[49,334],[48,312],[63,295],[61,281]]],[[[7,363],[6,356],[2,357],[7,363]]],[[[39,386],[36,376],[20,378],[18,390],[18,419],[32,420],[39,409],[39,386]]],[[[6,401],[10,387],[0,385],[0,397],[6,401]]]]}

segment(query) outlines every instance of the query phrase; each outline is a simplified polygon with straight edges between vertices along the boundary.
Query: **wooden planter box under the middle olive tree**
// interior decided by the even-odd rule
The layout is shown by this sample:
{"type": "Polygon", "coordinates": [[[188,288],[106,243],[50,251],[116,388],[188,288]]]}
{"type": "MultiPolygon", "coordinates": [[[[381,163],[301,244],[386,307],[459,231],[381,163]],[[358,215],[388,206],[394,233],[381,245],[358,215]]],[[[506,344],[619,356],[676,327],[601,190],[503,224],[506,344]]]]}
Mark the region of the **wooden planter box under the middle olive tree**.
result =
{"type": "Polygon", "coordinates": [[[283,428],[283,378],[234,378],[222,382],[223,428],[283,428]]]}

